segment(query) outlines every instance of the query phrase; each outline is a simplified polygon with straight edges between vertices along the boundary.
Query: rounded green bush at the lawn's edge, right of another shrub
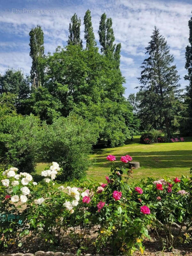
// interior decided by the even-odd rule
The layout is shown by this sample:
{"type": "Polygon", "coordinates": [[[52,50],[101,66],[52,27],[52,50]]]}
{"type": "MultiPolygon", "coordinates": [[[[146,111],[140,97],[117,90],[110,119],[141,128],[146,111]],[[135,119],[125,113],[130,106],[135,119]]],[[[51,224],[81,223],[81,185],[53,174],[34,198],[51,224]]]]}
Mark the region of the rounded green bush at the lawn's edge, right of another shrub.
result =
{"type": "Polygon", "coordinates": [[[83,118],[72,115],[60,117],[51,125],[43,125],[43,158],[60,164],[63,169],[60,180],[80,179],[90,166],[88,154],[97,138],[95,126],[83,118]]]}

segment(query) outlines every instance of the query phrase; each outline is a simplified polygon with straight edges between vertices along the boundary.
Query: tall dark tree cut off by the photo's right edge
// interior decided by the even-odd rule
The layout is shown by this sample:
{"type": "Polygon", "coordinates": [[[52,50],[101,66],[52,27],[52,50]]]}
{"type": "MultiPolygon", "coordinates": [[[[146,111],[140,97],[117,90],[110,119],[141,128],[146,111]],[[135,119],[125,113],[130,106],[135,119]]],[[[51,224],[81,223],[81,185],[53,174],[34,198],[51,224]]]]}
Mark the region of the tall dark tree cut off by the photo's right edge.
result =
{"type": "MultiPolygon", "coordinates": [[[[187,120],[184,122],[183,132],[185,134],[191,135],[192,134],[192,17],[188,21],[189,27],[189,45],[186,47],[185,52],[185,68],[188,71],[188,74],[184,77],[185,80],[189,81],[189,85],[186,86],[186,100],[185,103],[188,105],[188,110],[185,112],[185,117],[187,120]]],[[[183,124],[182,124],[183,126],[183,124]]]]}

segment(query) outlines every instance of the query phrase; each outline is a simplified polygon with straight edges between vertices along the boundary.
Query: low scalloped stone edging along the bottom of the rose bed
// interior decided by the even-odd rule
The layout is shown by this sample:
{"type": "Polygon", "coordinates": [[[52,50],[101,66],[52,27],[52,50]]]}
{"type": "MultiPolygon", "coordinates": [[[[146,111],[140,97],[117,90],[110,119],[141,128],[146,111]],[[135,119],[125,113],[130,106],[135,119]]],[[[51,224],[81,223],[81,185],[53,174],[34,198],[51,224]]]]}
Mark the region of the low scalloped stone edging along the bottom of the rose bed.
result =
{"type": "MultiPolygon", "coordinates": [[[[71,252],[44,252],[44,251],[38,251],[33,253],[9,253],[9,254],[4,254],[0,253],[0,256],[77,256],[77,254],[71,253],[71,252]]],[[[83,255],[82,253],[79,256],[101,256],[100,254],[85,254],[83,255]]],[[[105,256],[113,256],[113,255],[105,255],[105,256]]]]}

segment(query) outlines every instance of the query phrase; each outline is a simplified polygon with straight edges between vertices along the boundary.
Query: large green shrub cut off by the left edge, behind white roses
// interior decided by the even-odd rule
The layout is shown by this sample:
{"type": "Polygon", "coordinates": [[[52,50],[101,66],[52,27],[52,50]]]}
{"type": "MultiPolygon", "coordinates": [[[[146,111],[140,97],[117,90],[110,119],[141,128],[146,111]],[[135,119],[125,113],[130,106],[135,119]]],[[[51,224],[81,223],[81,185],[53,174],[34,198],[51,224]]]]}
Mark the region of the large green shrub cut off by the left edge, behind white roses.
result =
{"type": "Polygon", "coordinates": [[[1,165],[31,172],[39,152],[40,120],[30,116],[4,116],[0,123],[1,165]]]}

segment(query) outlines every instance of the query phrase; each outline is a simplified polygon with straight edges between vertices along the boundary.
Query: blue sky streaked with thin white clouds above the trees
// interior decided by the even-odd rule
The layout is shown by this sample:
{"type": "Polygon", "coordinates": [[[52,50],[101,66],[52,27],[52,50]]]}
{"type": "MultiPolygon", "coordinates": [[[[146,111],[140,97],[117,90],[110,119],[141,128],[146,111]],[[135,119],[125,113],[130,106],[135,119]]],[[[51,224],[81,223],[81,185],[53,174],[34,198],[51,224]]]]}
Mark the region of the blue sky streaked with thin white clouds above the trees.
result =
{"type": "Polygon", "coordinates": [[[83,18],[87,9],[98,46],[99,21],[103,12],[113,20],[115,43],[121,43],[120,69],[125,76],[125,96],[136,93],[141,63],[147,57],[145,47],[150,41],[154,26],[165,36],[174,64],[180,75],[182,88],[188,84],[183,79],[185,47],[188,44],[188,20],[192,16],[191,0],[6,0],[0,1],[0,73],[7,68],[22,69],[30,74],[29,32],[37,24],[44,31],[45,53],[53,53],[58,45],[65,46],[71,16],[76,12],[81,18],[81,38],[84,47],[83,18]]]}

